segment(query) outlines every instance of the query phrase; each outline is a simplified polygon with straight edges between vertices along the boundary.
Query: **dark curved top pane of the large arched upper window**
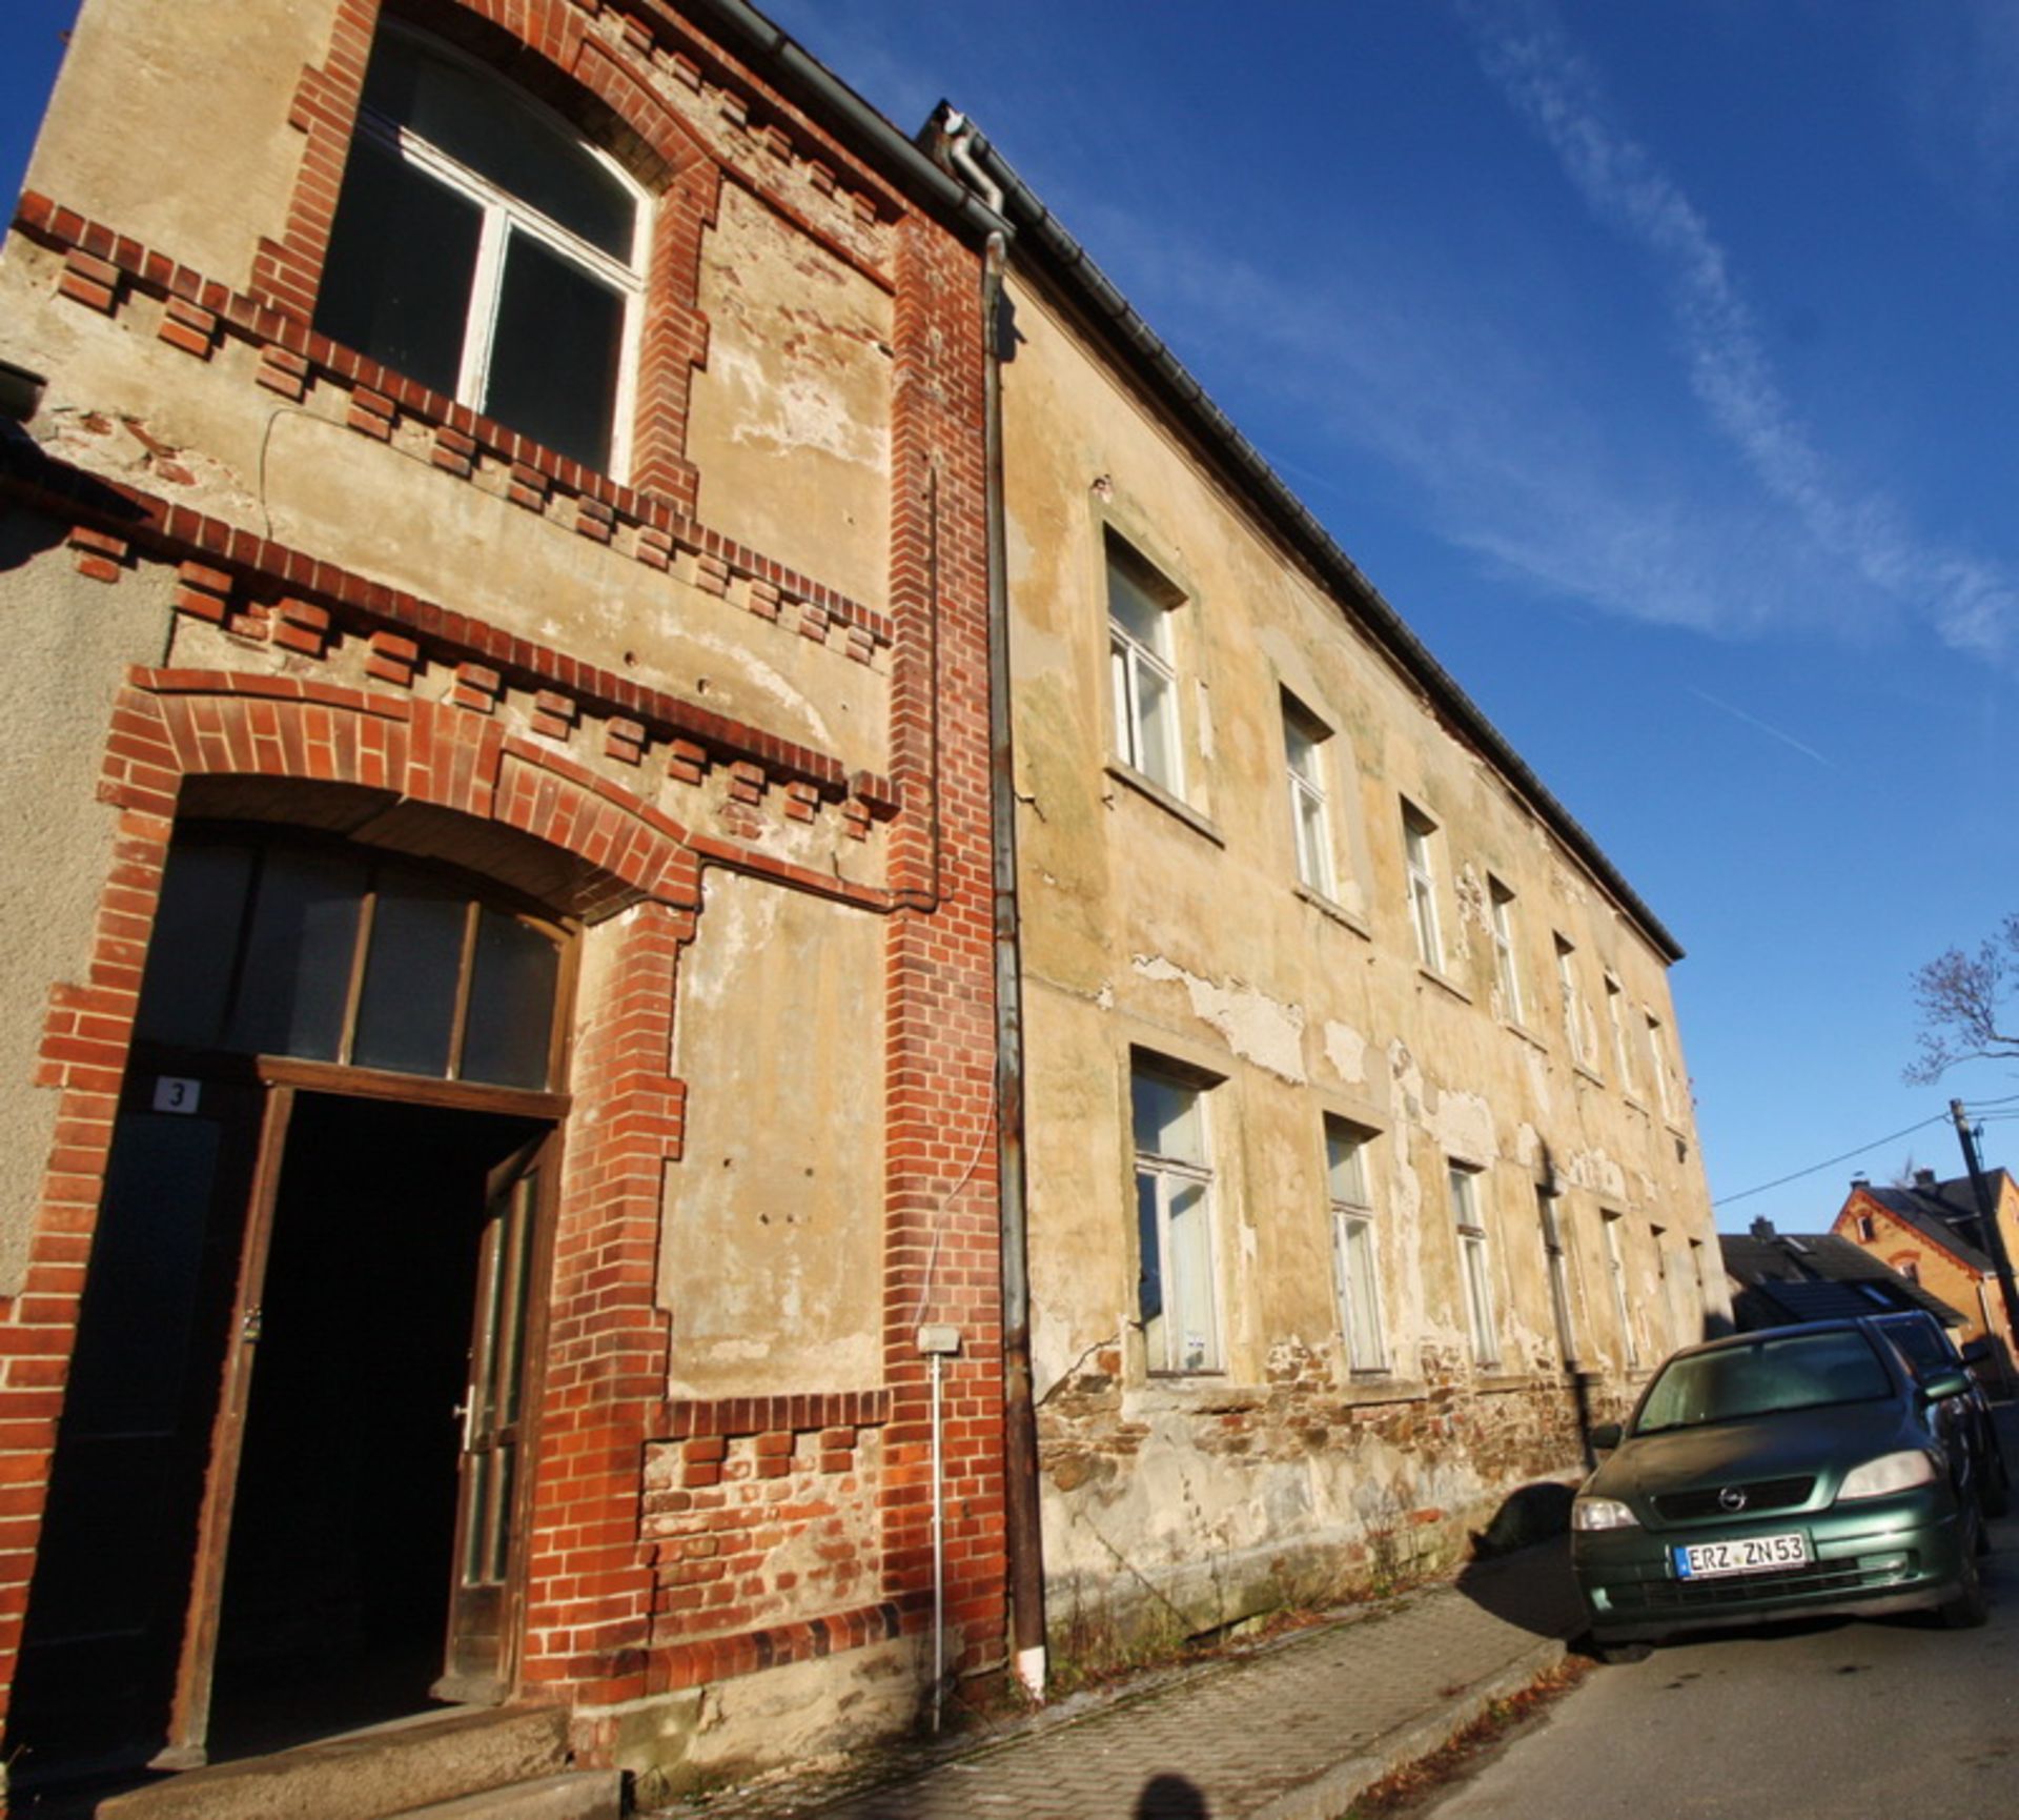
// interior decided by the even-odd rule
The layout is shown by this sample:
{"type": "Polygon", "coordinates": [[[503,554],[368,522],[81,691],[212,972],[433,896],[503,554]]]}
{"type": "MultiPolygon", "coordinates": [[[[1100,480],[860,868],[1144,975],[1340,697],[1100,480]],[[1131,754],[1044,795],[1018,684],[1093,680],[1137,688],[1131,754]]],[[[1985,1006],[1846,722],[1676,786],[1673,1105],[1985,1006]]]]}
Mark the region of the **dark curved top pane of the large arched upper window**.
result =
{"type": "Polygon", "coordinates": [[[499,77],[384,32],[371,50],[365,105],[592,246],[630,261],[638,222],[630,188],[499,77]]]}

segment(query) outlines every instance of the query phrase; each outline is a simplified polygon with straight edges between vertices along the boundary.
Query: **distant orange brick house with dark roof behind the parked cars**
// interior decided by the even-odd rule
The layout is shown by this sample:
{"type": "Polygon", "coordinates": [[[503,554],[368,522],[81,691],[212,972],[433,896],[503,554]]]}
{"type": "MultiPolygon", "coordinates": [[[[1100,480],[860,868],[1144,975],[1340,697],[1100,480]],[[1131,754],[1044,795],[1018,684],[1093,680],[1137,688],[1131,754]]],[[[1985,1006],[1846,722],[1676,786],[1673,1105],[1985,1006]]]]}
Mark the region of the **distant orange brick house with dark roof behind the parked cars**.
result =
{"type": "MultiPolygon", "coordinates": [[[[1985,1170],[1985,1186],[2005,1252],[2019,1258],[2019,1184],[2005,1170],[1985,1170]]],[[[1942,1182],[1934,1170],[1914,1170],[1912,1184],[1898,1188],[1857,1176],[1829,1230],[1956,1309],[1956,1343],[1989,1335],[2011,1376],[2013,1331],[1969,1176],[1942,1182]]]]}

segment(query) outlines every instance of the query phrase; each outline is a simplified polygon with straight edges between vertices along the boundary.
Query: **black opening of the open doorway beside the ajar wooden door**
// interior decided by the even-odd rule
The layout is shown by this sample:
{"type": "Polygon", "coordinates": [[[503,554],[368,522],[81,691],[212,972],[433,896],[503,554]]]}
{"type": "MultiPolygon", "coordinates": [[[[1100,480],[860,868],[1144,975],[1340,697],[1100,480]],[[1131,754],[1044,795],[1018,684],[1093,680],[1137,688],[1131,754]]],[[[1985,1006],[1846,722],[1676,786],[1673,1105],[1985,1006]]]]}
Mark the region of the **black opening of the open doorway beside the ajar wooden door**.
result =
{"type": "Polygon", "coordinates": [[[220,1602],[214,1761],[430,1705],[485,1188],[541,1129],[297,1099],[220,1602]]]}

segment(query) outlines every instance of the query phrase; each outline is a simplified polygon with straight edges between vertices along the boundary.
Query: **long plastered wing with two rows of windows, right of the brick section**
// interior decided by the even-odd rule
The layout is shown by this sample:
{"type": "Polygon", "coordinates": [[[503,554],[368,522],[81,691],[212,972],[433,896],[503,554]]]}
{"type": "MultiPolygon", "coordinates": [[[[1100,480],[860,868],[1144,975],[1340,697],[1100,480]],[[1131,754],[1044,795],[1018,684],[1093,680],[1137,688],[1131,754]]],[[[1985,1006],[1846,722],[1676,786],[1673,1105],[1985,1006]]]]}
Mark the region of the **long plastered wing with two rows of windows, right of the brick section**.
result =
{"type": "Polygon", "coordinates": [[[1084,1658],[1452,1561],[1728,1307],[1676,939],[1007,160],[935,133],[1010,226],[1001,834],[1084,1658]]]}

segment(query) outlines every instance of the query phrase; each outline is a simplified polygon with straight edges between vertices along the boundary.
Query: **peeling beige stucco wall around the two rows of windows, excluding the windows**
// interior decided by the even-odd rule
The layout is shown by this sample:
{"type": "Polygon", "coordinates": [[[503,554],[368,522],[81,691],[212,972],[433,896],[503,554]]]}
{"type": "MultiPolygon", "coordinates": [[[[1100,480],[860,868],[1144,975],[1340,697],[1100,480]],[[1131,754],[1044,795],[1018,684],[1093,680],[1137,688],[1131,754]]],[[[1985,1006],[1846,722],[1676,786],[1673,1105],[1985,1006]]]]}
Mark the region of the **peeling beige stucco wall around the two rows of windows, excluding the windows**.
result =
{"type": "MultiPolygon", "coordinates": [[[[1141,1576],[1205,1628],[1326,1559],[1367,1570],[1397,1535],[1413,1537],[1411,1557],[1448,1545],[1524,1479],[1575,1469],[1543,1186],[1559,1192],[1581,1361],[1611,1372],[1603,1396],[1631,1388],[1605,1214],[1621,1220],[1641,1368],[1700,1337],[1706,1289],[1710,1317],[1728,1309],[1682,1077],[1666,1115],[1656,1097],[1645,1020],[1676,1032],[1662,953],[1048,301],[1022,283],[1014,301],[1003,394],[1046,1568],[1054,1606],[1141,1576]],[[1183,596],[1165,620],[1177,800],[1114,760],[1108,535],[1183,596]],[[1331,729],[1331,901],[1298,885],[1284,691],[1331,729]],[[1409,921],[1403,800],[1438,826],[1436,974],[1409,921]],[[1488,875],[1514,893],[1518,1022],[1498,1002],[1488,875]],[[1567,1048],[1557,933],[1577,949],[1587,1067],[1567,1048]],[[1627,1008],[1631,1093],[1607,974],[1627,1008]],[[1165,1378],[1145,1357],[1133,1050],[1213,1083],[1224,1372],[1165,1378]],[[1391,1370],[1371,1378],[1343,1359],[1324,1115],[1373,1133],[1391,1370]],[[1448,1161],[1480,1172],[1494,1370],[1472,1363],[1448,1161]]],[[[1070,1628],[1056,1608],[1052,1620],[1070,1628]]]]}

